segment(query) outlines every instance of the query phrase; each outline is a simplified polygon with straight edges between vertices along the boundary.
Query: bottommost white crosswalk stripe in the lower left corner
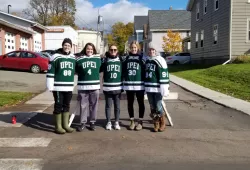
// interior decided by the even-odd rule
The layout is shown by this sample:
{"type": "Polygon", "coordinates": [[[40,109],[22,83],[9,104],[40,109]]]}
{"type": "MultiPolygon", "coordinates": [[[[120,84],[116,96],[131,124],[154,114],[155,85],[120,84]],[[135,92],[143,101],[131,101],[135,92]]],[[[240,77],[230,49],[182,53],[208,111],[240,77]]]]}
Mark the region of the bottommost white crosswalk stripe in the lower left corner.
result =
{"type": "Polygon", "coordinates": [[[41,170],[42,159],[0,159],[0,170],[41,170]]]}

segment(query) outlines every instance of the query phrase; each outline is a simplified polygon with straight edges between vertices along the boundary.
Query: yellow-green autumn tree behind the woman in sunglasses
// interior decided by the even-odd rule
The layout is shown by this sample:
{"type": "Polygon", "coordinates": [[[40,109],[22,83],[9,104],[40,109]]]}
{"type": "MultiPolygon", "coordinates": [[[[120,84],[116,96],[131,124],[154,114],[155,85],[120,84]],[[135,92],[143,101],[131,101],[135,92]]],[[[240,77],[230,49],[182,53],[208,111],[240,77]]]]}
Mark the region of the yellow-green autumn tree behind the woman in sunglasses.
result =
{"type": "Polygon", "coordinates": [[[116,44],[120,53],[124,53],[125,43],[133,34],[134,23],[124,24],[117,22],[112,26],[110,34],[107,34],[108,44],[116,44]]]}

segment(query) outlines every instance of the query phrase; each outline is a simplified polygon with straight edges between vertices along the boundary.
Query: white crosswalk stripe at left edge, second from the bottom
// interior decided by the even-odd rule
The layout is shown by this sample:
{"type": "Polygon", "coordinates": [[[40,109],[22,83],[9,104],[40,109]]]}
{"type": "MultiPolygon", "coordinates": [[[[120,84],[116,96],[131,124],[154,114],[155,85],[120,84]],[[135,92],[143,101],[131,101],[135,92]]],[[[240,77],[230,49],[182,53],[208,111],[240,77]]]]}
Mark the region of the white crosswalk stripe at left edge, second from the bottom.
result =
{"type": "Polygon", "coordinates": [[[0,147],[47,147],[51,138],[0,138],[0,147]]]}

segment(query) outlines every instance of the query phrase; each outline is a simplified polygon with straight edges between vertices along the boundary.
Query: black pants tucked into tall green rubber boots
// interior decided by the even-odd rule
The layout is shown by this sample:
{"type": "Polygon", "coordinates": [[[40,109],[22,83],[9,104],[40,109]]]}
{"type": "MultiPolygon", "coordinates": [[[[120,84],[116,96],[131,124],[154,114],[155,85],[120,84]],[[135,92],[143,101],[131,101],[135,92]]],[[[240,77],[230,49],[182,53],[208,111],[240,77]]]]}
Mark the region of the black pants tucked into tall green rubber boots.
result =
{"type": "Polygon", "coordinates": [[[69,112],[70,101],[72,99],[72,91],[53,91],[55,100],[54,114],[69,112]]]}

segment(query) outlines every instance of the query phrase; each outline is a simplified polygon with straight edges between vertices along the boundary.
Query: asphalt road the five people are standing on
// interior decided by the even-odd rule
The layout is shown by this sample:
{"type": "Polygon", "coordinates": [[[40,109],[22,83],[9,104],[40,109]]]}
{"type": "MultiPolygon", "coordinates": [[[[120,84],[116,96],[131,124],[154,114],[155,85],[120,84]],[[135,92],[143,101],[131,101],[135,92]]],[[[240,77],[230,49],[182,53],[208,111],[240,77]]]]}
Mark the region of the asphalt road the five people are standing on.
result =
{"type": "MultiPolygon", "coordinates": [[[[104,101],[99,103],[97,130],[53,133],[53,106],[20,128],[1,128],[1,138],[46,138],[46,147],[1,147],[1,159],[41,159],[43,169],[175,169],[249,170],[250,117],[172,85],[179,100],[167,102],[174,127],[151,132],[146,104],[145,128],[129,131],[126,101],[121,101],[121,131],[106,131],[104,101]]],[[[75,97],[71,111],[75,109],[75,97]]],[[[137,104],[135,104],[136,113],[137,104]]],[[[138,116],[138,114],[136,114],[138,116]]],[[[73,127],[78,119],[74,120],[73,127]]],[[[0,142],[1,144],[1,142],[0,142]]],[[[32,144],[32,143],[31,143],[32,144]]],[[[27,163],[26,163],[27,164],[27,163]]],[[[34,165],[32,161],[27,165],[34,165]]],[[[27,168],[26,168],[27,169],[27,168]]]]}

